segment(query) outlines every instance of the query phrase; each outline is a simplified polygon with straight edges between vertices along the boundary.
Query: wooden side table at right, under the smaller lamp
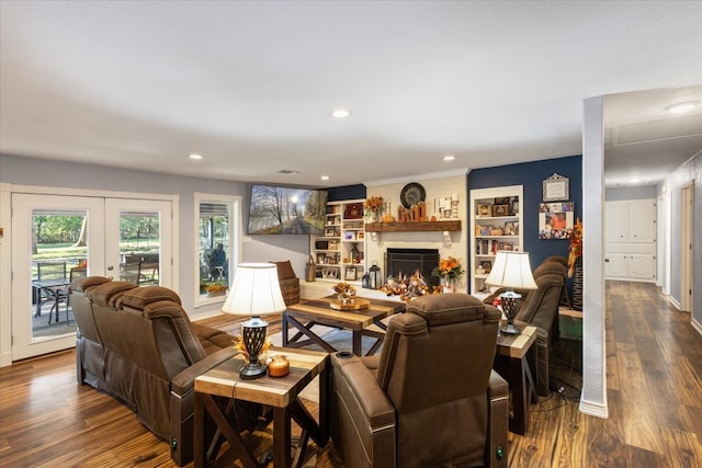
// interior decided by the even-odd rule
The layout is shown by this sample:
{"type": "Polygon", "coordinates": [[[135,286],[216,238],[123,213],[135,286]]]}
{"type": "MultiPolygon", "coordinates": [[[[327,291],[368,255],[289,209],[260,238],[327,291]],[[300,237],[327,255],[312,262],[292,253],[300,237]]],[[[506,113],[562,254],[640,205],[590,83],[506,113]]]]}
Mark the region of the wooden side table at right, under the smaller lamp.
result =
{"type": "Polygon", "coordinates": [[[497,354],[509,359],[507,381],[512,390],[512,413],[509,430],[524,435],[529,427],[529,406],[536,402],[536,387],[532,369],[536,368],[536,327],[524,327],[520,334],[497,336],[497,354]]]}

